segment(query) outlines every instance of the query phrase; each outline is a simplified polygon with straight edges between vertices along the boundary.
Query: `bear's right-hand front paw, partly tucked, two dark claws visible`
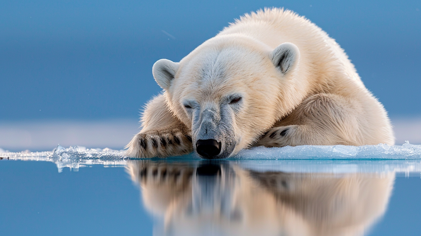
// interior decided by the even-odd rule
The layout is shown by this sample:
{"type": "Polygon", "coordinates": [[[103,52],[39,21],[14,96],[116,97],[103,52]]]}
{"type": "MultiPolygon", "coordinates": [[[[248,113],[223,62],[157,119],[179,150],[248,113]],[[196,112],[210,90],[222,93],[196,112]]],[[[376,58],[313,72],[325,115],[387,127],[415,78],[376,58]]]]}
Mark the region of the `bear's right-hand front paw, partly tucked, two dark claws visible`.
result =
{"type": "Polygon", "coordinates": [[[256,146],[284,147],[300,145],[300,126],[280,126],[269,129],[263,134],[256,146]]]}

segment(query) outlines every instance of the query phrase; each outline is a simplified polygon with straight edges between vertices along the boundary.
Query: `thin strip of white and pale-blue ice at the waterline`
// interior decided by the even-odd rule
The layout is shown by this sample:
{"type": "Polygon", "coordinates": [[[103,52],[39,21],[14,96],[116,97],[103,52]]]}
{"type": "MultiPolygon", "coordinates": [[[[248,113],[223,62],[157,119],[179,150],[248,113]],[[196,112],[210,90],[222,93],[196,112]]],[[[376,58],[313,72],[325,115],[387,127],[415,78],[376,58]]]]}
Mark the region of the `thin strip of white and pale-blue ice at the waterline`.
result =
{"type": "MultiPolygon", "coordinates": [[[[125,166],[130,158],[125,156],[125,150],[112,150],[109,148],[85,148],[82,146],[64,148],[58,145],[53,151],[8,152],[0,149],[0,159],[24,161],[49,161],[57,165],[59,172],[64,167],[77,171],[79,167],[103,164],[104,166],[125,166]]],[[[157,158],[152,158],[157,159],[157,158]]],[[[184,156],[165,158],[165,160],[200,159],[195,153],[184,156]]],[[[241,150],[228,160],[421,160],[421,145],[412,145],[406,142],[402,146],[389,146],[386,144],[364,146],[286,146],[282,148],[255,147],[241,150]]]]}

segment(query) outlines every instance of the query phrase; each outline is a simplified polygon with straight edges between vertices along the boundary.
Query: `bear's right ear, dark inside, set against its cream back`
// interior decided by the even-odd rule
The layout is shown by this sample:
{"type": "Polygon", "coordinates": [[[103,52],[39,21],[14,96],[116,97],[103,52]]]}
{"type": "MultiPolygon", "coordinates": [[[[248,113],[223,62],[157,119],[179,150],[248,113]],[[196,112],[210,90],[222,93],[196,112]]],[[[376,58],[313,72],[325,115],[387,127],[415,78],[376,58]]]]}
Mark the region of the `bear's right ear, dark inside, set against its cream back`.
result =
{"type": "Polygon", "coordinates": [[[300,51],[293,43],[282,43],[270,53],[270,59],[274,66],[285,75],[295,69],[298,59],[300,59],[300,51]]]}

